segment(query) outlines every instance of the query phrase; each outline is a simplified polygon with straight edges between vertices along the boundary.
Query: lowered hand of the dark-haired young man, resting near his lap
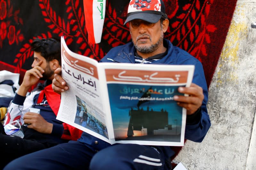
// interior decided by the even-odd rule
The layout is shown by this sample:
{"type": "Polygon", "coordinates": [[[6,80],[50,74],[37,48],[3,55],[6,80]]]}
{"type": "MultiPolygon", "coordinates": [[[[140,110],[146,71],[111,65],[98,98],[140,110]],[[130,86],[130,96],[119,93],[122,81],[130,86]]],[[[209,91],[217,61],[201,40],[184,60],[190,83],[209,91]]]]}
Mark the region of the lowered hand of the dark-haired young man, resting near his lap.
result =
{"type": "Polygon", "coordinates": [[[40,114],[27,112],[24,117],[24,124],[29,124],[27,127],[34,129],[38,132],[51,134],[53,130],[53,124],[47,122],[40,114]]]}

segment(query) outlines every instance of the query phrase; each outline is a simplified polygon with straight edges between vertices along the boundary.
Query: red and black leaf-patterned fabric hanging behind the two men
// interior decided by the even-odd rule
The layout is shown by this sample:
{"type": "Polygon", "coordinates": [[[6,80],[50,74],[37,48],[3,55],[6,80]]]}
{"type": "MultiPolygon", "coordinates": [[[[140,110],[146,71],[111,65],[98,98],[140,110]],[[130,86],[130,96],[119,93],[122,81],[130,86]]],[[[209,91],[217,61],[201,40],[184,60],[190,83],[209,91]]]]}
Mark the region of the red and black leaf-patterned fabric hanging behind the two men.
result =
{"type": "MultiPolygon", "coordinates": [[[[129,1],[106,1],[102,41],[90,44],[83,0],[0,0],[0,70],[22,78],[31,68],[35,37],[63,35],[73,52],[100,60],[112,47],[131,41],[128,24],[123,25],[129,1]]],[[[170,21],[165,38],[202,62],[209,87],[236,0],[163,1],[170,21]]],[[[181,147],[173,149],[178,153],[181,147]]]]}

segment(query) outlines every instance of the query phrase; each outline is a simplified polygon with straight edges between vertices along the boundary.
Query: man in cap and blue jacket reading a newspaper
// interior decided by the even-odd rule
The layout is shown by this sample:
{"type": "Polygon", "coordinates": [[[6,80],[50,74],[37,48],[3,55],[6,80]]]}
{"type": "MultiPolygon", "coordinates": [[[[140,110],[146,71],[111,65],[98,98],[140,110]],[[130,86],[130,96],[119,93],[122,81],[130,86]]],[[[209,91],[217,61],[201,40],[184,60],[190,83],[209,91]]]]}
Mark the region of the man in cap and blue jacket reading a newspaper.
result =
{"type": "MultiPolygon", "coordinates": [[[[135,63],[137,67],[139,64],[194,65],[192,85],[178,89],[188,96],[175,95],[174,100],[187,111],[185,138],[202,142],[211,126],[206,108],[208,92],[202,64],[163,38],[169,20],[162,0],[131,0],[125,24],[128,22],[132,42],[112,48],[100,62],[135,63]]],[[[55,73],[52,84],[54,91],[61,93],[68,90],[60,75],[61,69],[55,73]]],[[[83,132],[78,141],[26,155],[5,169],[172,169],[172,155],[174,152],[169,146],[111,145],[83,132]]]]}

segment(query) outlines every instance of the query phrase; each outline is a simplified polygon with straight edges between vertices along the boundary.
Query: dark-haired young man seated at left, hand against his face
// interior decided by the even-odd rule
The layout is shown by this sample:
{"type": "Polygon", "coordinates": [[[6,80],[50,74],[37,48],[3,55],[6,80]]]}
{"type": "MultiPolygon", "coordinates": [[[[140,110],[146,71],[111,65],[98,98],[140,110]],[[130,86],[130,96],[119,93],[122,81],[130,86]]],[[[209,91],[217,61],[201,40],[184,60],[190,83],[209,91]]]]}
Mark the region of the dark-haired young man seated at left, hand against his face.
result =
{"type": "Polygon", "coordinates": [[[77,140],[81,136],[80,130],[56,120],[61,97],[53,92],[51,84],[54,70],[61,68],[60,42],[55,39],[35,39],[31,48],[34,51],[32,69],[26,71],[4,120],[4,125],[18,120],[27,126],[22,126],[24,138],[20,138],[5,135],[1,124],[0,150],[4,153],[0,164],[2,168],[17,157],[77,140]],[[45,79],[44,84],[39,83],[26,97],[31,86],[37,84],[40,78],[45,79]],[[29,107],[40,109],[40,114],[28,112],[29,107]]]}

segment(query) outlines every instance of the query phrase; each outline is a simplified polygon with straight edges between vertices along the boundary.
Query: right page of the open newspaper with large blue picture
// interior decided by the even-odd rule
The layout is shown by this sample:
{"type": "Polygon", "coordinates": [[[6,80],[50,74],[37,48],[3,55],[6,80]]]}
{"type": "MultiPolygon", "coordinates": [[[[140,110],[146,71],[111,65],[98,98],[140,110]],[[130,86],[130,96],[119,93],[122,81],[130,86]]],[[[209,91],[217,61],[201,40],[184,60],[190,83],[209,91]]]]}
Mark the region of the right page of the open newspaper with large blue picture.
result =
{"type": "Polygon", "coordinates": [[[112,143],[183,146],[186,109],[173,96],[184,95],[178,87],[190,85],[194,66],[148,66],[105,68],[112,143]]]}

